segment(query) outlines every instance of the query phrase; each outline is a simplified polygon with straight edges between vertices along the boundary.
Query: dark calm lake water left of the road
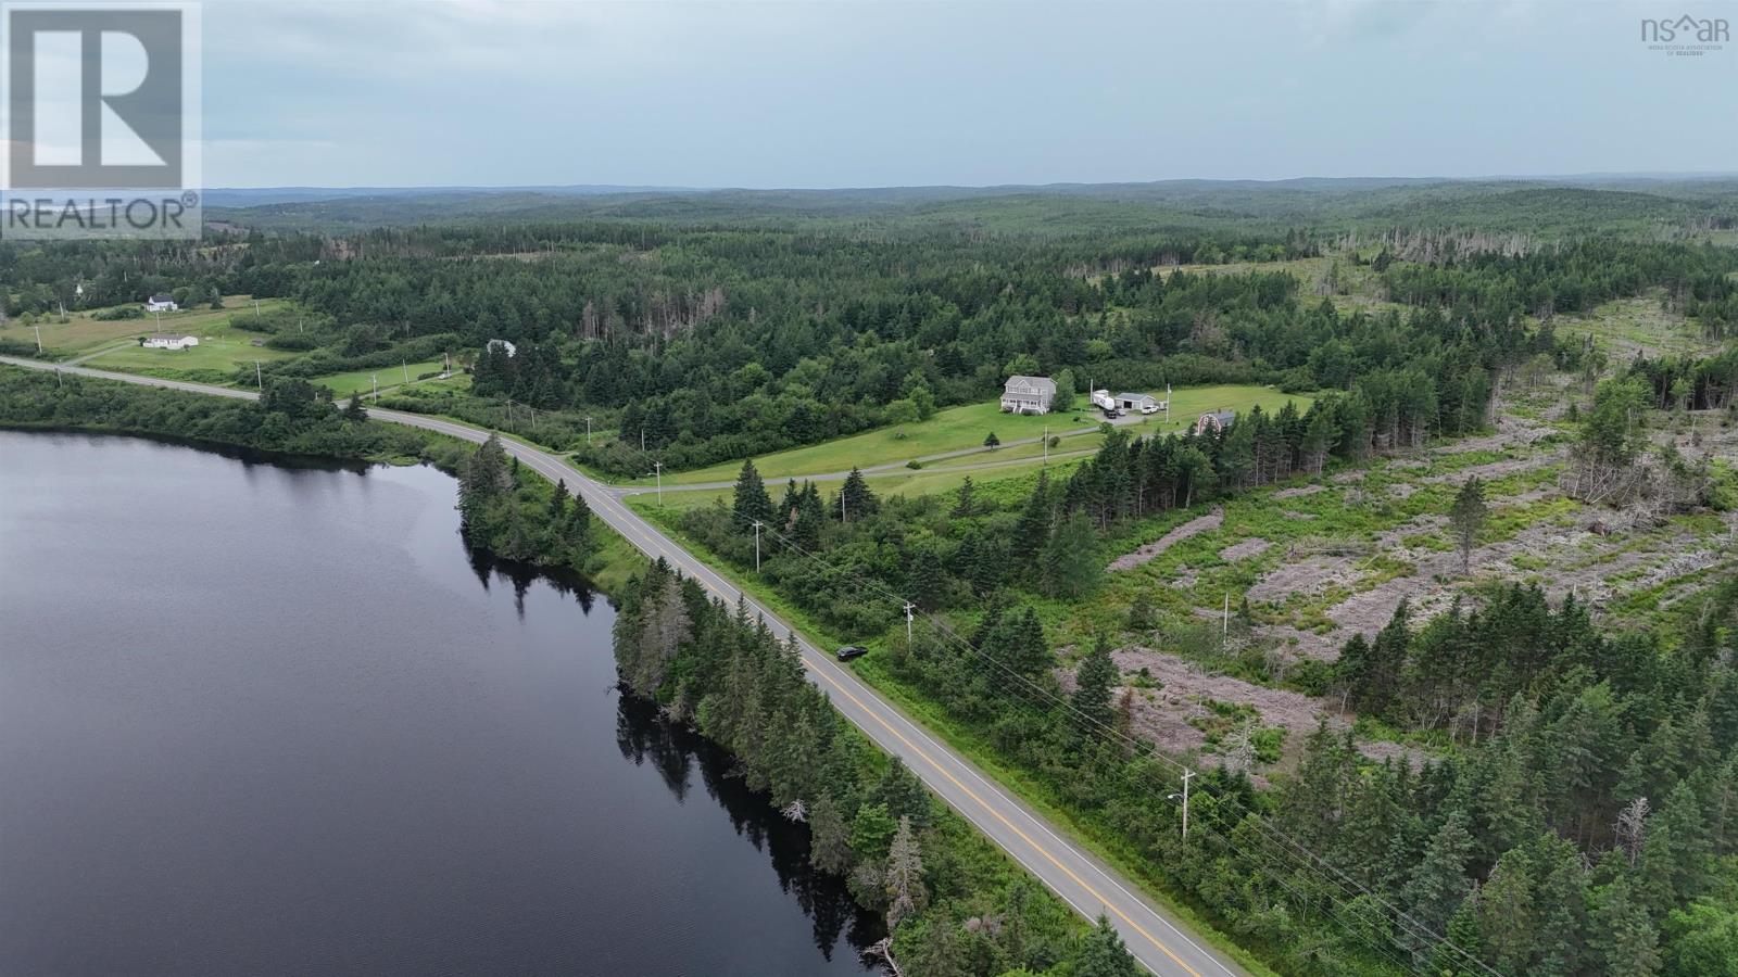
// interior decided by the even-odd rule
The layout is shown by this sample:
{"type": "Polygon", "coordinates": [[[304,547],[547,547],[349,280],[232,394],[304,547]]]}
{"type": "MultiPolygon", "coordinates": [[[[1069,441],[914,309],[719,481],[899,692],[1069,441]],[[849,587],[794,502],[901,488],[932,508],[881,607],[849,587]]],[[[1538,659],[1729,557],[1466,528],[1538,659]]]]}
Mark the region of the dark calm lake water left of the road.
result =
{"type": "Polygon", "coordinates": [[[876,923],[615,690],[454,482],[0,431],[0,974],[862,974],[876,923]]]}

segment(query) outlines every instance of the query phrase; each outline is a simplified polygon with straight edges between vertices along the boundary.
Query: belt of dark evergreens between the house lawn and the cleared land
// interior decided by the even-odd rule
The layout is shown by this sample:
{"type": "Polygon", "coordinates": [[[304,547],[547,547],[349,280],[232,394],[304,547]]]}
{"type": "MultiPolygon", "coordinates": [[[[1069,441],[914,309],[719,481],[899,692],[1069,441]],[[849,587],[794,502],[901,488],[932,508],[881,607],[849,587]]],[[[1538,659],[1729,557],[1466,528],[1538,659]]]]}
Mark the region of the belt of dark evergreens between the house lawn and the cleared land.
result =
{"type": "Polygon", "coordinates": [[[1291,402],[1276,412],[1255,409],[1224,429],[1130,438],[1112,428],[1065,480],[1039,473],[1024,494],[1020,482],[982,492],[968,476],[947,499],[883,501],[852,473],[826,497],[813,483],[791,482],[775,502],[749,461],[728,508],[688,509],[680,525],[753,567],[753,523],[761,522],[761,574],[773,586],[833,626],[874,633],[890,622],[890,605],[866,601],[864,581],[925,610],[975,607],[1001,588],[1079,596],[1104,575],[1102,534],[1126,520],[1321,475],[1330,459],[1467,433],[1484,415],[1483,376],[1467,388],[1479,400],[1444,414],[1429,377],[1378,372],[1307,410],[1291,402]]]}

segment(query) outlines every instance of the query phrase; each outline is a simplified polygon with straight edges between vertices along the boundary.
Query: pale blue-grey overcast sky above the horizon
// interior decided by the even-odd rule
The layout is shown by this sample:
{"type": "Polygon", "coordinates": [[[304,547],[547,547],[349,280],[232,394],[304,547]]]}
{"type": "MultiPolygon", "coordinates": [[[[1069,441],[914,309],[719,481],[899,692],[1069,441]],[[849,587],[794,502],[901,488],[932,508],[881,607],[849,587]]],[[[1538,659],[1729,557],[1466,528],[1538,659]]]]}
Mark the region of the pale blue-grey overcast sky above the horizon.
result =
{"type": "Polygon", "coordinates": [[[209,0],[205,186],[1738,170],[1738,0],[209,0]]]}

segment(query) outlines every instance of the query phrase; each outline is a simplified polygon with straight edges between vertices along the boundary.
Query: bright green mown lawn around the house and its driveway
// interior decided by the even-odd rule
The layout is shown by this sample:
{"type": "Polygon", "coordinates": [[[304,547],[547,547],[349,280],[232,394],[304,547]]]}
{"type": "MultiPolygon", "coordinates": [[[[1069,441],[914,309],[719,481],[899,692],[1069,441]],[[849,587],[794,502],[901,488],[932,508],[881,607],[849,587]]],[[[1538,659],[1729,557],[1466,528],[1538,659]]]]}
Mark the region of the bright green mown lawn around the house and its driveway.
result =
{"type": "MultiPolygon", "coordinates": [[[[1159,393],[1163,395],[1163,391],[1159,393]]],[[[1128,428],[1142,435],[1159,431],[1168,433],[1184,429],[1203,412],[1218,407],[1231,407],[1237,412],[1246,412],[1251,407],[1260,405],[1264,410],[1277,410],[1286,400],[1297,400],[1298,409],[1302,410],[1310,403],[1310,398],[1302,395],[1284,395],[1262,386],[1229,384],[1182,388],[1173,391],[1171,400],[1170,422],[1164,421],[1163,414],[1154,414],[1140,417],[1137,422],[1128,424],[1128,428]]],[[[1085,403],[1085,396],[1081,402],[1085,403]]],[[[1100,417],[1097,410],[1069,410],[1043,417],[1025,417],[1003,414],[996,402],[970,403],[966,407],[939,410],[928,421],[918,421],[916,424],[879,428],[819,445],[760,455],[754,459],[754,468],[760,469],[761,478],[775,482],[784,478],[801,478],[805,475],[850,471],[853,466],[874,468],[879,464],[904,464],[912,459],[954,450],[973,450],[982,454],[942,459],[928,462],[925,468],[958,466],[1010,457],[1038,457],[1043,454],[1041,445],[1010,445],[1010,442],[1039,438],[1045,431],[1050,431],[1050,435],[1062,436],[1062,443],[1053,449],[1055,452],[1093,449],[1098,445],[1097,429],[1102,421],[1104,417],[1100,417]],[[996,438],[1008,447],[998,449],[996,452],[984,449],[984,436],[991,431],[994,431],[996,438]]],[[[664,483],[693,485],[700,482],[732,482],[740,469],[740,461],[728,461],[709,468],[666,475],[664,483]]],[[[631,482],[631,485],[650,483],[652,480],[648,478],[631,482]]]]}

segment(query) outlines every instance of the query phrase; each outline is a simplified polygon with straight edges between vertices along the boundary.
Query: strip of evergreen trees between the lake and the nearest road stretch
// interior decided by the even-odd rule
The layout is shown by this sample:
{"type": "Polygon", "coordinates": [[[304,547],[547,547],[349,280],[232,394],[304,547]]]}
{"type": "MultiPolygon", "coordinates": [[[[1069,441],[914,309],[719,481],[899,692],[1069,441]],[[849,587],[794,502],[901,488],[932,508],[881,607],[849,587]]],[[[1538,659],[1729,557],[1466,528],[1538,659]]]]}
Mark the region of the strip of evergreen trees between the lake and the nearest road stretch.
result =
{"type": "Polygon", "coordinates": [[[1138,974],[1116,932],[1069,909],[850,730],[794,643],[662,560],[620,595],[622,685],[728,749],[746,784],[808,824],[810,862],[886,916],[907,974],[1138,974]],[[1024,970],[1022,970],[1024,968],[1024,970]]]}

